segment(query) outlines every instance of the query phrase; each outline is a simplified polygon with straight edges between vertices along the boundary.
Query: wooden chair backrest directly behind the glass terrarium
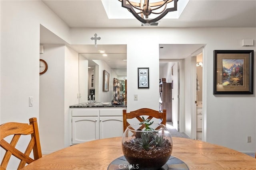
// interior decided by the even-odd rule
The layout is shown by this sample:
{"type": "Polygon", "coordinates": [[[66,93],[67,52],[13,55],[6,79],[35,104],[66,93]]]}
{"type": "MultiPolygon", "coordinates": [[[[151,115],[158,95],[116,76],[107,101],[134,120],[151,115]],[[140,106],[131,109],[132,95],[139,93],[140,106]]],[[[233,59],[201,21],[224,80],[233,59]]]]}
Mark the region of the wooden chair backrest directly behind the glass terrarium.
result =
{"type": "Polygon", "coordinates": [[[153,117],[157,119],[162,119],[162,124],[166,125],[166,109],[163,109],[163,112],[159,112],[153,109],[142,108],[135,111],[130,111],[130,113],[126,113],[126,109],[123,109],[123,129],[125,131],[126,127],[130,125],[127,119],[132,119],[136,117],[140,122],[143,119],[140,116],[147,115],[147,119],[152,119],[153,117]]]}

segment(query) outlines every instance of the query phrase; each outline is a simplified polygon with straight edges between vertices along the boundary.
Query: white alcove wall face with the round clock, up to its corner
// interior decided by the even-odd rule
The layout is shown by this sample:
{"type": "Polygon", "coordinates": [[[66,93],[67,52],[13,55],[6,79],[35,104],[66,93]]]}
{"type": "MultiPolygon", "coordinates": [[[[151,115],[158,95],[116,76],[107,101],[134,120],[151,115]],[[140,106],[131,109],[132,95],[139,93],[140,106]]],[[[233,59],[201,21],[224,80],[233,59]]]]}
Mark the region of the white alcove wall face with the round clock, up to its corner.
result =
{"type": "Polygon", "coordinates": [[[39,130],[44,154],[64,147],[64,56],[64,45],[44,45],[40,54],[48,64],[40,75],[39,130]]]}

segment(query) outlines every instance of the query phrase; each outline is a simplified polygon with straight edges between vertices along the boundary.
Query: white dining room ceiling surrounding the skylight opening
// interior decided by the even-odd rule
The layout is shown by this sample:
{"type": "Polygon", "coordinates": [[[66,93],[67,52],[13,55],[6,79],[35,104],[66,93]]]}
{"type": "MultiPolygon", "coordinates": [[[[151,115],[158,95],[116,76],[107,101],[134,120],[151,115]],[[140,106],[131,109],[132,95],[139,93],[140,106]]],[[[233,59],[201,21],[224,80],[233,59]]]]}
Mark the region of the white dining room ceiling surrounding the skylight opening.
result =
{"type": "MultiPolygon", "coordinates": [[[[70,27],[141,27],[135,18],[108,19],[101,0],[43,2],[70,27]]],[[[190,0],[179,19],[163,18],[150,27],[255,27],[255,8],[255,0],[190,0]]]]}

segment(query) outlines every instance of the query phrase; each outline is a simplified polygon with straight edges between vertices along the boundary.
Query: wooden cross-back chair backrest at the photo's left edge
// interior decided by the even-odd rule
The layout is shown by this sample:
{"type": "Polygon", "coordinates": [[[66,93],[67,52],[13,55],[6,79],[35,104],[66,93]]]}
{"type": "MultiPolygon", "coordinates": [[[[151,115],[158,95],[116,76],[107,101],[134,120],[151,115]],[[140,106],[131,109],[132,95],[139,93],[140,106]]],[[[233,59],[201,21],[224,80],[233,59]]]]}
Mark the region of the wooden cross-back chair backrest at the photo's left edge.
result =
{"type": "Polygon", "coordinates": [[[20,170],[26,164],[30,164],[34,160],[42,157],[37,120],[35,117],[32,117],[29,119],[29,122],[30,124],[8,122],[0,125],[0,145],[4,150],[6,150],[1,162],[1,170],[6,169],[12,155],[20,159],[20,164],[18,165],[17,170],[20,170]],[[4,140],[4,138],[10,135],[14,136],[11,142],[8,143],[4,140]],[[21,135],[31,135],[31,140],[28,143],[28,147],[24,153],[15,148],[21,135]],[[32,149],[34,153],[34,159],[29,157],[32,149]]]}

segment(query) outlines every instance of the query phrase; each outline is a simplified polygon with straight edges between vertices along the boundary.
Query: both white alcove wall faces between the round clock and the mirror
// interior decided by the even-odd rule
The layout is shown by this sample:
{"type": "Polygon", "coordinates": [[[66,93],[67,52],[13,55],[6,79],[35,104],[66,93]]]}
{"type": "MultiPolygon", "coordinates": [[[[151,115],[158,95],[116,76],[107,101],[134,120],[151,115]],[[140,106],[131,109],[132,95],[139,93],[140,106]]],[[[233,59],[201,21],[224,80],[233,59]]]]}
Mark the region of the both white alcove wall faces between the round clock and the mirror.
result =
{"type": "Polygon", "coordinates": [[[78,103],[78,53],[65,45],[44,44],[40,59],[48,63],[40,75],[40,140],[42,153],[49,154],[68,146],[69,106],[78,103]]]}

